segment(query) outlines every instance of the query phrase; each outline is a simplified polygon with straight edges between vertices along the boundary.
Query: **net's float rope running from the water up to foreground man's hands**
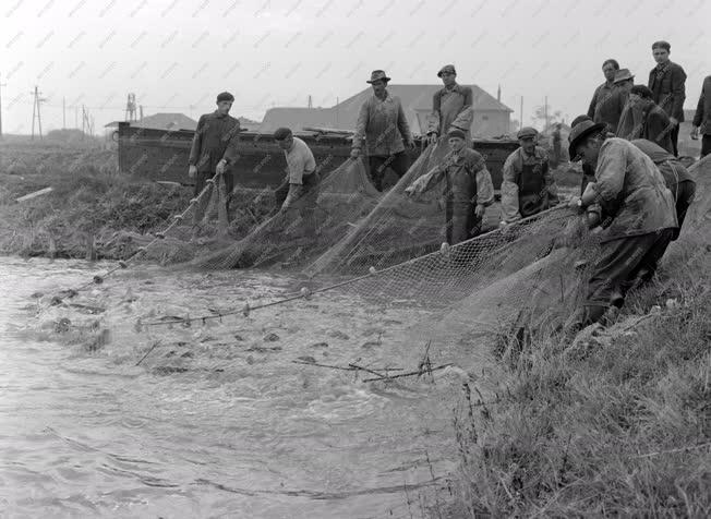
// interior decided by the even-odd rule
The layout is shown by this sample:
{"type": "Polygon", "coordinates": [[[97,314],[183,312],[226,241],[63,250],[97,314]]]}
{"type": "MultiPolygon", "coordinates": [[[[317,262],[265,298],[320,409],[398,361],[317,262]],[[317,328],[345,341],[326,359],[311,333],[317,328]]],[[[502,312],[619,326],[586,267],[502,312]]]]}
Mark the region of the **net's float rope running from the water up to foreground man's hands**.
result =
{"type": "MultiPolygon", "coordinates": [[[[515,222],[513,222],[510,225],[511,226],[521,225],[523,222],[530,221],[530,220],[535,219],[535,218],[540,218],[541,216],[551,214],[551,213],[559,210],[559,209],[567,209],[567,206],[565,204],[559,204],[559,205],[557,205],[555,207],[543,210],[543,212],[538,213],[535,215],[529,216],[527,218],[522,218],[520,220],[516,220],[515,222]]],[[[457,243],[451,249],[457,249],[459,246],[467,245],[469,243],[475,242],[477,240],[480,240],[480,239],[482,239],[482,238],[484,238],[486,236],[491,236],[491,234],[496,233],[496,232],[501,232],[501,229],[493,229],[493,230],[491,230],[489,232],[485,232],[484,234],[479,234],[478,237],[474,237],[474,238],[471,238],[471,239],[469,239],[467,241],[457,243]]],[[[225,316],[237,315],[237,314],[243,314],[246,317],[246,316],[249,316],[250,312],[252,312],[254,310],[262,310],[262,309],[266,309],[266,307],[269,307],[269,306],[277,306],[279,304],[289,303],[291,301],[296,301],[296,300],[299,300],[299,299],[306,299],[308,300],[313,294],[328,292],[328,291],[335,290],[337,288],[346,287],[348,285],[352,285],[354,282],[362,281],[363,279],[367,279],[367,278],[371,278],[371,277],[374,277],[374,276],[379,276],[382,274],[386,274],[386,273],[388,273],[390,270],[394,270],[396,268],[401,268],[401,267],[403,267],[406,265],[409,265],[409,264],[411,264],[413,262],[422,261],[422,258],[424,258],[424,257],[433,257],[436,254],[446,253],[445,252],[446,249],[447,248],[443,248],[443,249],[441,249],[438,251],[431,252],[431,253],[425,254],[423,256],[413,257],[411,260],[408,260],[407,262],[398,263],[396,265],[390,265],[389,267],[384,268],[382,270],[376,270],[375,267],[371,267],[367,274],[364,274],[364,275],[361,275],[361,276],[358,276],[358,277],[354,277],[354,278],[351,278],[351,279],[347,279],[345,281],[340,281],[340,282],[337,282],[337,283],[334,283],[334,285],[328,285],[326,287],[322,287],[322,288],[318,288],[316,290],[310,290],[310,289],[304,287],[304,288],[301,289],[301,291],[298,294],[289,295],[287,298],[279,299],[279,300],[276,300],[276,301],[270,301],[268,303],[261,303],[261,304],[250,305],[250,303],[246,302],[246,303],[244,303],[244,306],[242,309],[239,309],[239,310],[234,309],[234,310],[230,310],[228,312],[212,313],[212,314],[202,315],[202,316],[198,316],[198,317],[181,317],[181,318],[172,318],[172,319],[164,319],[164,321],[153,321],[153,322],[148,322],[148,323],[142,323],[141,319],[138,319],[137,326],[138,327],[141,327],[141,326],[165,326],[165,325],[173,325],[173,324],[194,323],[196,321],[201,321],[201,322],[204,323],[204,322],[206,322],[208,319],[221,319],[225,316]]]]}

